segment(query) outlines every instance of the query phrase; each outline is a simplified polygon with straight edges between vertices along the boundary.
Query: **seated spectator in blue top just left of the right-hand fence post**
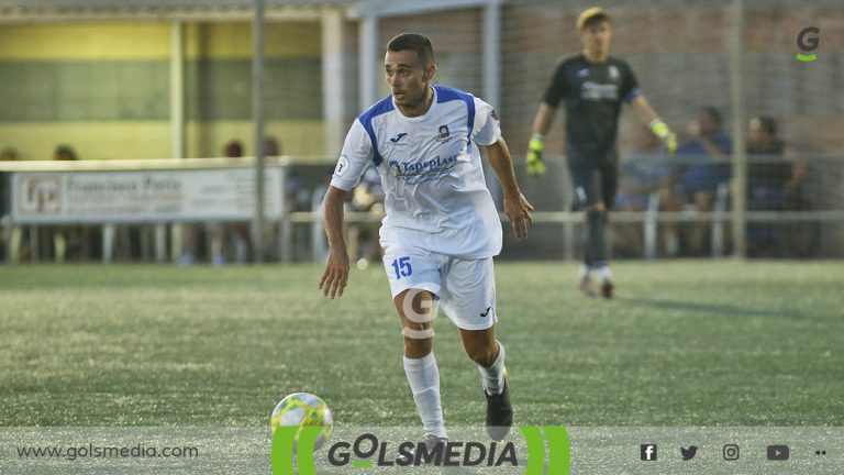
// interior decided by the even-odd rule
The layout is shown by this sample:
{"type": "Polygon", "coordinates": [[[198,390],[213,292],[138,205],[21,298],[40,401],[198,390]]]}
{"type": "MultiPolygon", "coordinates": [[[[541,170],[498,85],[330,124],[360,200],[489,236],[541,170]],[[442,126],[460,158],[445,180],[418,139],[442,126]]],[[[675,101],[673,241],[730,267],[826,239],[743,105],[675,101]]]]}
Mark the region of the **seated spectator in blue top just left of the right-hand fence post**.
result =
{"type": "MultiPolygon", "coordinates": [[[[682,173],[682,192],[686,201],[699,212],[713,211],[718,188],[730,181],[730,164],[725,158],[732,153],[733,144],[722,125],[718,109],[701,109],[688,129],[691,140],[677,151],[678,155],[687,155],[689,162],[695,161],[686,165],[682,173]]],[[[692,223],[686,235],[686,251],[701,255],[710,229],[709,222],[692,223]]]]}

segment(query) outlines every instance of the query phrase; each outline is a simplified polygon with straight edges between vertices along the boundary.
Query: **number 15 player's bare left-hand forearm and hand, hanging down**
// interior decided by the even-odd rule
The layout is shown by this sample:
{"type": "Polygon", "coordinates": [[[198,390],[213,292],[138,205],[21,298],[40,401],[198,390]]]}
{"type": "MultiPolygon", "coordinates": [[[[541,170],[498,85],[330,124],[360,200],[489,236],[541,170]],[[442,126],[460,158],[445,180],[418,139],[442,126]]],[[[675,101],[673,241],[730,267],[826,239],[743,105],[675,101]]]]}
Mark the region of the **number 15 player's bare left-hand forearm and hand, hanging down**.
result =
{"type": "Polygon", "coordinates": [[[325,297],[343,297],[348,280],[348,253],[343,240],[343,202],[348,191],[329,187],[323,202],[323,221],[329,236],[329,261],[320,278],[320,288],[325,297]]]}

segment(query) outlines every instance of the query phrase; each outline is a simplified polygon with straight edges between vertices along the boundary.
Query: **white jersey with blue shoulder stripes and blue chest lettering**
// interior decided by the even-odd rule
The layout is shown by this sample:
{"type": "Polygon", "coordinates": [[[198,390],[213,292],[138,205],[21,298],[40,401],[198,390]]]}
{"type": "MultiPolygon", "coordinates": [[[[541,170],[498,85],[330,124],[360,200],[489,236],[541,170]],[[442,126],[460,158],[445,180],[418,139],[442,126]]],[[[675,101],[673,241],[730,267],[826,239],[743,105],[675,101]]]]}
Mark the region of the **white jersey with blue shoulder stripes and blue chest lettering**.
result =
{"type": "Polygon", "coordinates": [[[501,137],[492,107],[443,86],[424,115],[404,117],[387,97],[352,124],[331,186],[351,190],[368,164],[381,177],[381,241],[460,258],[501,252],[501,222],[477,144],[501,137]]]}

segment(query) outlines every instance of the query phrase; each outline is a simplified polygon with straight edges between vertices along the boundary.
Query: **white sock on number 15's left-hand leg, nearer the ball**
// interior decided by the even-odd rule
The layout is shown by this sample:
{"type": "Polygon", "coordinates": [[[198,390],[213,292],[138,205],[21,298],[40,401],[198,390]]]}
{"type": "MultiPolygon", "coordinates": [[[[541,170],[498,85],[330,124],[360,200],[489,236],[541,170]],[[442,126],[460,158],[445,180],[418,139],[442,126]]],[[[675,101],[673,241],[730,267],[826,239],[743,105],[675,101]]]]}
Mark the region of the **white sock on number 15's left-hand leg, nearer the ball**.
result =
{"type": "Polygon", "coordinates": [[[443,407],[440,404],[440,369],[436,367],[434,353],[431,352],[421,358],[404,356],[404,374],[408,376],[422,426],[425,428],[425,435],[447,438],[443,407]]]}

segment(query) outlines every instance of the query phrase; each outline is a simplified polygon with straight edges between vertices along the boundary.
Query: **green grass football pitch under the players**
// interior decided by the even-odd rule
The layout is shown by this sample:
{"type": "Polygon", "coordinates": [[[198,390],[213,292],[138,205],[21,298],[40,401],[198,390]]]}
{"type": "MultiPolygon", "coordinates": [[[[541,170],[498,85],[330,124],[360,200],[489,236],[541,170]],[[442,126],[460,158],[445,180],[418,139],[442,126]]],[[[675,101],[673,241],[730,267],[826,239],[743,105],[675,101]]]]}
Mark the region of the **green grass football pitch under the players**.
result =
{"type": "MultiPolygon", "coordinates": [[[[499,263],[518,424],[844,426],[844,264],[499,263]]],[[[293,391],[342,424],[418,424],[380,266],[342,299],[321,267],[0,266],[0,426],[267,426],[293,391]]],[[[436,320],[449,424],[478,372],[436,320]]]]}

